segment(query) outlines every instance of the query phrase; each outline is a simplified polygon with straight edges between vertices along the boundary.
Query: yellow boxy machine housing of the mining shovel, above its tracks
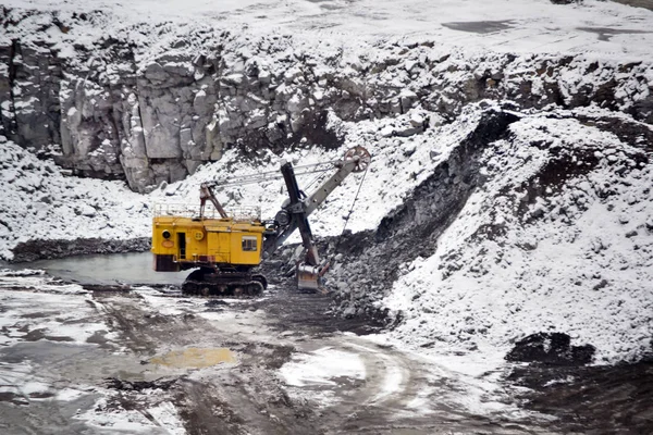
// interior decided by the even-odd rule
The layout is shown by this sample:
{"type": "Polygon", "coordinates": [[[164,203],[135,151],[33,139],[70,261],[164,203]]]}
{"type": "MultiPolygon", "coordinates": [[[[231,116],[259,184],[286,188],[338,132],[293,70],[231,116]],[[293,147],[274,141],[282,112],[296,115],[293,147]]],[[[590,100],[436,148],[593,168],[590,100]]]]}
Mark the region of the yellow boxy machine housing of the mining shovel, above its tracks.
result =
{"type": "Polygon", "coordinates": [[[174,271],[194,264],[258,265],[264,231],[258,221],[156,216],[151,248],[157,261],[155,269],[174,271]],[[159,258],[170,265],[161,265],[159,258]]]}

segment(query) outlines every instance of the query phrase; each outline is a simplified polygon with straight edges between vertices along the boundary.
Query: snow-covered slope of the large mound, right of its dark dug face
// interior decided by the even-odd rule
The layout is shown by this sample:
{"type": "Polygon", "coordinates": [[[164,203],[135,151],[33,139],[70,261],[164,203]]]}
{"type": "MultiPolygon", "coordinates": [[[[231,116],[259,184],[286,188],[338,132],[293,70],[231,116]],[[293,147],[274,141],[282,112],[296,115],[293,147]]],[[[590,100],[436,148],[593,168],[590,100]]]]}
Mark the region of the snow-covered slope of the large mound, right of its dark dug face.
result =
{"type": "Polygon", "coordinates": [[[595,346],[596,362],[637,359],[653,332],[651,165],[619,175],[603,158],[587,175],[538,198],[519,220],[518,189],[506,196],[502,187],[526,183],[552,159],[549,149],[602,149],[627,165],[641,151],[575,120],[525,117],[510,130],[510,142],[488,150],[489,183],[467,201],[435,253],[407,265],[379,303],[405,315],[391,338],[481,357],[505,355],[529,334],[564,332],[574,345],[595,346]],[[550,140],[549,149],[529,147],[534,138],[550,140]],[[606,196],[606,188],[616,191],[606,196]],[[492,224],[505,235],[479,236],[492,224]]]}

